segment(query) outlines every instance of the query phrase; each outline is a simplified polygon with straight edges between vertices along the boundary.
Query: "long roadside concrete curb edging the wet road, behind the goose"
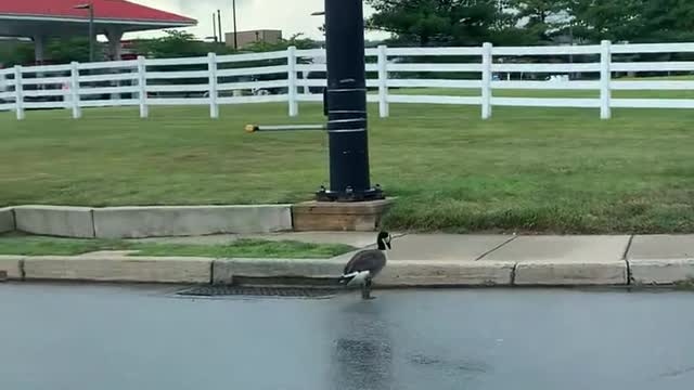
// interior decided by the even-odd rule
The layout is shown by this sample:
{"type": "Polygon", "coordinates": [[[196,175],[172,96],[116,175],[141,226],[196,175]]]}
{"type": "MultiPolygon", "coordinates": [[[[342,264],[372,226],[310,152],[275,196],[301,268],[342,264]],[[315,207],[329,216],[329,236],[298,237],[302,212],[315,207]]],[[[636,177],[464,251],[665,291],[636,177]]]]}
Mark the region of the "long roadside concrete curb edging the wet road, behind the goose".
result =
{"type": "MultiPolygon", "coordinates": [[[[0,256],[0,273],[15,281],[81,281],[231,285],[236,278],[272,284],[297,278],[324,285],[340,275],[344,261],[331,259],[145,258],[123,255],[79,257],[0,256]]],[[[651,286],[694,281],[694,260],[603,262],[391,261],[376,287],[464,286],[651,286]],[[628,278],[631,275],[631,280],[628,278]]],[[[330,282],[332,283],[332,282],[330,282]]]]}

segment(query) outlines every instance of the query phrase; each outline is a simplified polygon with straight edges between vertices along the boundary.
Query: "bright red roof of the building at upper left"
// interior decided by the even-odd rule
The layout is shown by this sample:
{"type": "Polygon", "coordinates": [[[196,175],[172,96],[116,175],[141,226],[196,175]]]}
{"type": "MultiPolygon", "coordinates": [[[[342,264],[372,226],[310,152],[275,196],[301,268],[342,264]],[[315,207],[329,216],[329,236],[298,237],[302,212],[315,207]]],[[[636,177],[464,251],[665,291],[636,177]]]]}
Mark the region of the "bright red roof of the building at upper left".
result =
{"type": "Polygon", "coordinates": [[[194,25],[195,20],[125,0],[0,0],[0,15],[18,17],[89,18],[76,5],[93,4],[94,18],[117,22],[154,22],[194,25]]]}

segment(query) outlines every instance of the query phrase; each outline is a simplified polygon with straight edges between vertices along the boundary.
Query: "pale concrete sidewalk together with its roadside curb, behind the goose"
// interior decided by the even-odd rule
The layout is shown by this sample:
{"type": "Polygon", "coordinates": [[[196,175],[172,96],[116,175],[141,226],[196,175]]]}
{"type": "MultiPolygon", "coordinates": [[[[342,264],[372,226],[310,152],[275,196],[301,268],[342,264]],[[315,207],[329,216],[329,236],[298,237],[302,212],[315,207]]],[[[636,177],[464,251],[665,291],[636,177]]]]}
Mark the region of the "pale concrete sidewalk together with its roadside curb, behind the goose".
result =
{"type": "MultiPolygon", "coordinates": [[[[220,244],[239,238],[375,244],[372,233],[278,233],[152,238],[147,242],[220,244]]],[[[354,253],[323,260],[133,258],[121,252],[73,258],[0,257],[14,280],[218,283],[339,275],[354,253]]],[[[404,286],[673,285],[694,280],[694,235],[512,236],[394,234],[388,265],[376,280],[404,286]]]]}

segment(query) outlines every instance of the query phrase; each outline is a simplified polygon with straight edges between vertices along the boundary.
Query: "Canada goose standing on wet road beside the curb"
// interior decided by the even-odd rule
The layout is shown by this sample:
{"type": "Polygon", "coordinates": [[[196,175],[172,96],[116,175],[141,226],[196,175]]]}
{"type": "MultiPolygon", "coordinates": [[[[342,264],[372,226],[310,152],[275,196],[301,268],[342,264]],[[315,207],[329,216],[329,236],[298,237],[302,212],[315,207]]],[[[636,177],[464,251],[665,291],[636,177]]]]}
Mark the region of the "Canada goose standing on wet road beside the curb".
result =
{"type": "Polygon", "coordinates": [[[386,266],[386,249],[390,249],[393,237],[388,232],[378,233],[377,249],[365,249],[355,255],[345,265],[339,283],[347,287],[361,286],[361,297],[371,299],[371,283],[386,266]]]}

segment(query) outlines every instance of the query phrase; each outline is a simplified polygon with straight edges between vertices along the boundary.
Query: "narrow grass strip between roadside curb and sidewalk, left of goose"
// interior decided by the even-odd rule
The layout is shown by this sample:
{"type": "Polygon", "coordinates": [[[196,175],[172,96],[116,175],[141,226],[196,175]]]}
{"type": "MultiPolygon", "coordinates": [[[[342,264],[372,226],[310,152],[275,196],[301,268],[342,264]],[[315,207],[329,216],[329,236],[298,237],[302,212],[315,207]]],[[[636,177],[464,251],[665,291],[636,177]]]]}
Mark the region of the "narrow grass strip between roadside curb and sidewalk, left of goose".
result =
{"type": "Polygon", "coordinates": [[[354,250],[348,245],[306,244],[291,240],[240,239],[227,245],[182,245],[129,240],[54,238],[0,235],[0,255],[75,256],[101,250],[139,250],[136,256],[325,259],[354,250]]]}

